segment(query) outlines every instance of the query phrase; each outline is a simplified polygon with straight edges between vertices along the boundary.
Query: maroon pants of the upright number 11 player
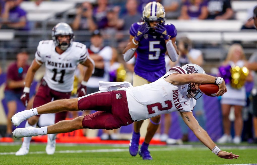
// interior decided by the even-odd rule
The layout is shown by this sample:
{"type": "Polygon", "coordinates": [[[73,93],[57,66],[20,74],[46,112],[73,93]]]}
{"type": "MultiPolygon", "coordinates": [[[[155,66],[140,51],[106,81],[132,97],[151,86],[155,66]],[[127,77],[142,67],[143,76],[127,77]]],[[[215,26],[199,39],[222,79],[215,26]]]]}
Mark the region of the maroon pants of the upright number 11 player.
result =
{"type": "MultiPolygon", "coordinates": [[[[51,102],[52,98],[54,100],[59,99],[69,99],[71,93],[70,92],[58,92],[55,90],[52,90],[48,87],[47,83],[44,81],[44,79],[41,81],[41,84],[38,88],[38,91],[36,92],[34,102],[33,102],[33,108],[39,107],[41,105],[47,104],[51,102]]],[[[67,111],[63,109],[63,112],[58,112],[55,114],[55,123],[65,120],[67,116],[67,111]]],[[[38,115],[40,116],[40,115],[38,115]]]]}

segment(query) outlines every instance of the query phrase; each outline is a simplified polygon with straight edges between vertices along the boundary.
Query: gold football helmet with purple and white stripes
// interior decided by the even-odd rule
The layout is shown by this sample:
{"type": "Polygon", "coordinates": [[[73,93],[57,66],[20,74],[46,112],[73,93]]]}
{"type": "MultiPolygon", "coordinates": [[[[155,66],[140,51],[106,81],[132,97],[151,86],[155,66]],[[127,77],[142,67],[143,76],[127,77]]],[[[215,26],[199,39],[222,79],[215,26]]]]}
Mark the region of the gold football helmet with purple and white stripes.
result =
{"type": "Polygon", "coordinates": [[[144,22],[160,21],[165,22],[165,10],[159,2],[149,2],[145,5],[143,10],[142,20],[144,22]]]}

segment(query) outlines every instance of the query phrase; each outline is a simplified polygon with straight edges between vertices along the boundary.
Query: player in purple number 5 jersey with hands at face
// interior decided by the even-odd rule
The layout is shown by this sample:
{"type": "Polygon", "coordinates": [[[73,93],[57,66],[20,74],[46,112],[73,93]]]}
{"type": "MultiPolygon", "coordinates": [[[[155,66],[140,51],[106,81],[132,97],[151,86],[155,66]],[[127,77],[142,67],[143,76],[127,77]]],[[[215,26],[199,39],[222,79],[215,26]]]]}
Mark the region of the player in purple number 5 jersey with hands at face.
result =
{"type": "MultiPolygon", "coordinates": [[[[130,42],[123,51],[125,61],[130,60],[134,53],[137,59],[134,68],[133,86],[140,86],[156,81],[165,74],[165,54],[175,62],[178,50],[175,44],[177,30],[172,24],[165,24],[165,11],[159,2],[146,4],[143,10],[143,22],[134,23],[130,28],[130,42]]],[[[152,160],[148,146],[158,129],[160,116],[150,119],[144,143],[139,151],[143,159],[152,160]]],[[[134,123],[134,131],[129,151],[132,156],[138,153],[140,127],[143,120],[134,123]]]]}

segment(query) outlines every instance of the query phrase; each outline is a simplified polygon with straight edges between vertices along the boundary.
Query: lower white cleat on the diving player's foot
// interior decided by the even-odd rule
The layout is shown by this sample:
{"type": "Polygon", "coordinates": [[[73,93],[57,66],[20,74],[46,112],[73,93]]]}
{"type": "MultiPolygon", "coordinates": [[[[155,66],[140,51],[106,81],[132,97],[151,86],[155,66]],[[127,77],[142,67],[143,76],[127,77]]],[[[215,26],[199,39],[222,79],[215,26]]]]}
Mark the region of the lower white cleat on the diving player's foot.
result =
{"type": "Polygon", "coordinates": [[[26,128],[16,128],[13,131],[13,136],[15,138],[24,138],[24,137],[30,137],[30,136],[38,136],[38,133],[34,133],[37,131],[34,131],[35,127],[26,127],[26,128]]]}

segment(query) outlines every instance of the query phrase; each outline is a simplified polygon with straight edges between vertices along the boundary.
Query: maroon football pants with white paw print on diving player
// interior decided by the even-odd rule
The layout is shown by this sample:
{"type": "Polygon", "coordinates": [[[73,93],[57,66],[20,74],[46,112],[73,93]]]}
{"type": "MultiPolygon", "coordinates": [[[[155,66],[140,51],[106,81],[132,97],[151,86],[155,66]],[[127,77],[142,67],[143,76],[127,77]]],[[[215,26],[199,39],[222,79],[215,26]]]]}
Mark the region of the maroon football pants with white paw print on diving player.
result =
{"type": "Polygon", "coordinates": [[[84,116],[82,125],[88,129],[112,130],[133,123],[127,105],[125,90],[113,90],[80,97],[79,110],[97,112],[84,116]]]}

